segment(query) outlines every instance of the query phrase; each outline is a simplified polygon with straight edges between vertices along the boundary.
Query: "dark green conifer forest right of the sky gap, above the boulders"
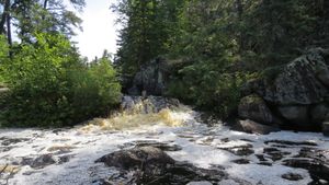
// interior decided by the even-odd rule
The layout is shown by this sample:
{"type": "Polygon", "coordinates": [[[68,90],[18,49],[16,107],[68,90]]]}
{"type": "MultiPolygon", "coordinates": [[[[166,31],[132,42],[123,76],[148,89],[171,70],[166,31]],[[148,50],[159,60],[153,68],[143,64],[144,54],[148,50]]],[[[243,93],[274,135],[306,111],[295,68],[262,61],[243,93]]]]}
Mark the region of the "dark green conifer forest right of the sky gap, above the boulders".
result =
{"type": "Polygon", "coordinates": [[[223,117],[247,80],[329,45],[322,0],[121,0],[113,10],[125,25],[115,60],[123,78],[164,57],[174,63],[167,94],[223,117]]]}

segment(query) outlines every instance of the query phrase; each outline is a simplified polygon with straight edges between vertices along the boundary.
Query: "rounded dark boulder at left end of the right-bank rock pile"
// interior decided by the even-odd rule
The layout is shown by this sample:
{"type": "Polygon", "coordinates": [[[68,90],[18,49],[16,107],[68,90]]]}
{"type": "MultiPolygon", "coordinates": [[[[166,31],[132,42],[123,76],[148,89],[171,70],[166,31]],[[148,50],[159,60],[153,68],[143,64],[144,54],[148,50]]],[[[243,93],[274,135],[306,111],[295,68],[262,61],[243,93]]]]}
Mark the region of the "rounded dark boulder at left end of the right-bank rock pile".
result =
{"type": "Polygon", "coordinates": [[[271,124],[274,122],[266,103],[257,94],[241,99],[238,112],[239,117],[243,119],[251,119],[262,124],[271,124]]]}

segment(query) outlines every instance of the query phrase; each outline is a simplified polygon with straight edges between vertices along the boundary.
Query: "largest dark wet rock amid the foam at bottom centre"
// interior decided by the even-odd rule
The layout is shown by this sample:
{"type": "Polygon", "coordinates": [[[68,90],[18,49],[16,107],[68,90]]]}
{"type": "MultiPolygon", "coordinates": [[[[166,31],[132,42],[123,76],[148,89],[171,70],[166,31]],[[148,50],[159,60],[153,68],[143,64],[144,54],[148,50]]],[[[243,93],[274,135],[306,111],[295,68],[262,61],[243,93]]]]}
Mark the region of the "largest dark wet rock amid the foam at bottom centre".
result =
{"type": "MultiPolygon", "coordinates": [[[[121,150],[98,159],[109,166],[115,166],[120,171],[134,171],[133,177],[125,176],[124,184],[188,184],[190,182],[207,181],[217,183],[226,174],[219,170],[198,169],[185,162],[177,162],[162,150],[155,147],[136,147],[129,150],[121,150]]],[[[122,178],[122,176],[121,176],[122,178]]],[[[115,177],[106,180],[107,183],[116,184],[115,177]]]]}

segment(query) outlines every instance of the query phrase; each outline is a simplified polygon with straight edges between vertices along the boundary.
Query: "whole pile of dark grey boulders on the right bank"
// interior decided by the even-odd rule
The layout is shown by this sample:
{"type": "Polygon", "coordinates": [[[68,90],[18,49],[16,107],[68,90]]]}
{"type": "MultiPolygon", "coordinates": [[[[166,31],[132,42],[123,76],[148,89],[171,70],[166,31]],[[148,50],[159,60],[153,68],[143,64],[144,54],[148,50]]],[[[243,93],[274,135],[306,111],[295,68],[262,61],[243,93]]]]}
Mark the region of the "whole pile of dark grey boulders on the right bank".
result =
{"type": "Polygon", "coordinates": [[[328,49],[310,49],[283,66],[271,80],[263,78],[246,84],[247,94],[259,96],[243,97],[239,116],[260,124],[270,120],[279,124],[273,117],[280,117],[283,128],[319,130],[329,115],[328,56],[328,49]],[[265,105],[271,105],[271,108],[265,108],[265,105]]]}

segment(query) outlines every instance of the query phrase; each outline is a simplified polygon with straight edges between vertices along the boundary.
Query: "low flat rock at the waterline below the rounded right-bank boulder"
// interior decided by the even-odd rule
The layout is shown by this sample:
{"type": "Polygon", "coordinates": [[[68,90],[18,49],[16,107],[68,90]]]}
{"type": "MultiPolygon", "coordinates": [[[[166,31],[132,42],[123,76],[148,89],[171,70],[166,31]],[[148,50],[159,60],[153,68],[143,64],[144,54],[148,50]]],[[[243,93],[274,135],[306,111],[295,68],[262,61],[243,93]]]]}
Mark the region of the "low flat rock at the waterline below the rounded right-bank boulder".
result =
{"type": "Polygon", "coordinates": [[[239,120],[232,129],[237,131],[243,131],[249,134],[268,135],[273,131],[280,131],[275,126],[261,125],[252,120],[239,120]]]}

